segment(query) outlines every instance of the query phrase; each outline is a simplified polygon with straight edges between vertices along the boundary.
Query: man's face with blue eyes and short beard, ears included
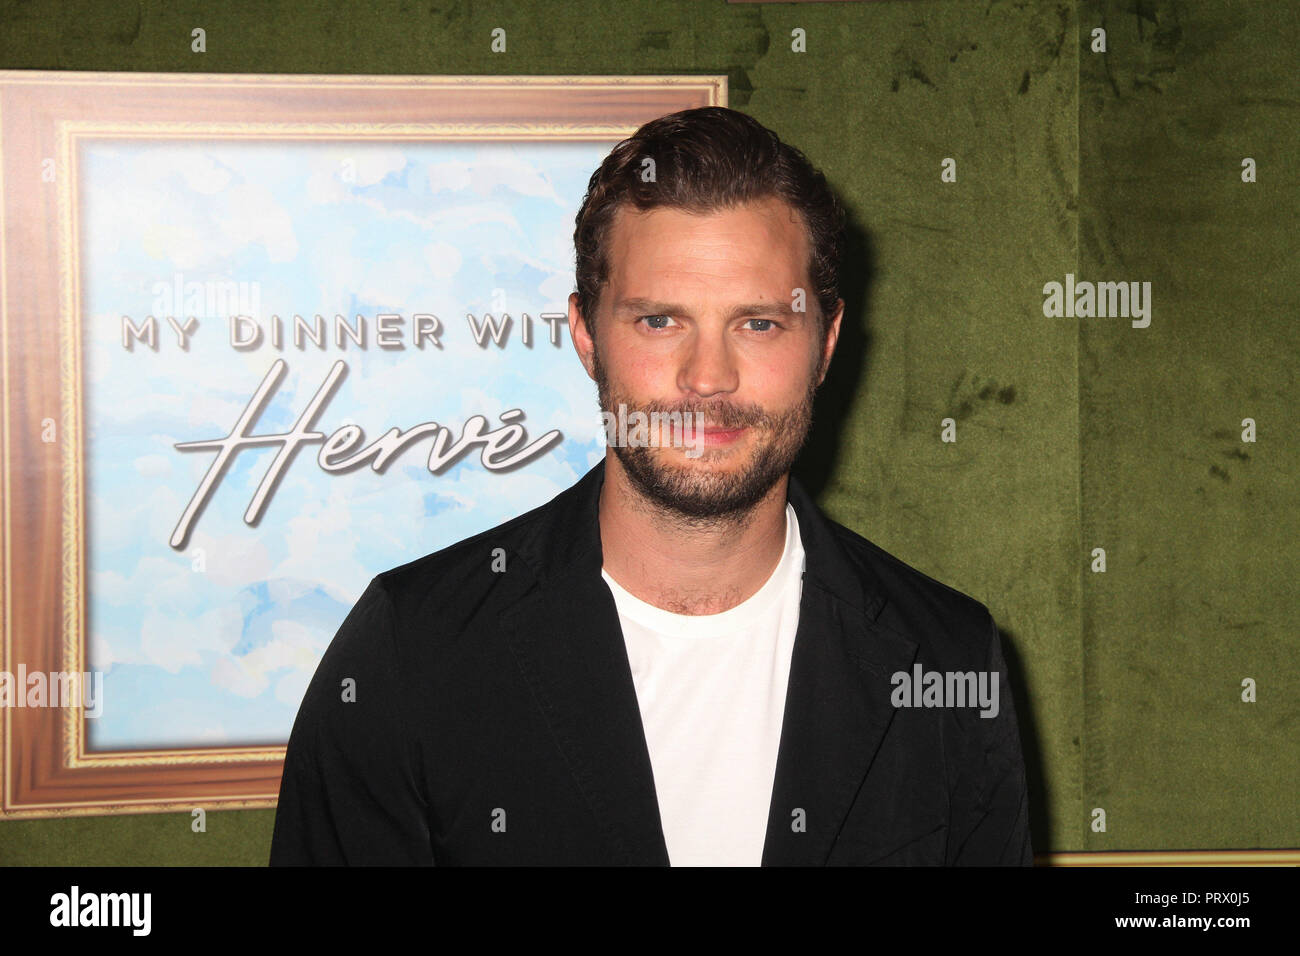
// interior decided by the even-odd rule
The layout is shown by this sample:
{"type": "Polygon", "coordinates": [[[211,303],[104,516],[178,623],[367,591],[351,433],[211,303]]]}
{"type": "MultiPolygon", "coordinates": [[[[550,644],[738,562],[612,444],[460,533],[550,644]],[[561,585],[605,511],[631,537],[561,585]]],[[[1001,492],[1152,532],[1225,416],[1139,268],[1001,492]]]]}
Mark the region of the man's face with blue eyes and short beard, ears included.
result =
{"type": "Polygon", "coordinates": [[[595,338],[569,300],[602,411],[681,412],[705,427],[653,431],[651,446],[614,453],[660,507],[690,519],[748,512],[807,438],[842,315],[841,303],[822,339],[801,217],[777,199],[705,216],[620,208],[608,247],[595,338]],[[794,311],[796,289],[809,311],[794,311]]]}

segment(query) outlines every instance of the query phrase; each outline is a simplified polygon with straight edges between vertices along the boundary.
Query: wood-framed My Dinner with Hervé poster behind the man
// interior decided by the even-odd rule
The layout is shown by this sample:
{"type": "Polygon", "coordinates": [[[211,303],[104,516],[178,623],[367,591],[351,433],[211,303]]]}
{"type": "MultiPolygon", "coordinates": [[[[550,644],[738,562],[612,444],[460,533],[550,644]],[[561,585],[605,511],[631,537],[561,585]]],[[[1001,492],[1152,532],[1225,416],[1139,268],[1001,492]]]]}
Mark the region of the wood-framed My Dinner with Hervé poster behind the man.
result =
{"type": "Polygon", "coordinates": [[[368,580],[603,457],[573,216],[725,94],[0,73],[0,814],[273,806],[368,580]]]}

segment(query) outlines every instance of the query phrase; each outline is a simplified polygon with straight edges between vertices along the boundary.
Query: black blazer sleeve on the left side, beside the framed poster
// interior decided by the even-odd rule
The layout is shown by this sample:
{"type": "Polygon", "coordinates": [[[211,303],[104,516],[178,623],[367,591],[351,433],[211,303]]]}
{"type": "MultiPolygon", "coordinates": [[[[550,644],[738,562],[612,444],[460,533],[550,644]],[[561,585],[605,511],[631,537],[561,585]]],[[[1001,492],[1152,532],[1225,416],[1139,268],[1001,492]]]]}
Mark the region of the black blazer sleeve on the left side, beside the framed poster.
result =
{"type": "Polygon", "coordinates": [[[434,864],[400,675],[393,600],[374,578],[325,650],[294,721],[272,866],[434,864]]]}

